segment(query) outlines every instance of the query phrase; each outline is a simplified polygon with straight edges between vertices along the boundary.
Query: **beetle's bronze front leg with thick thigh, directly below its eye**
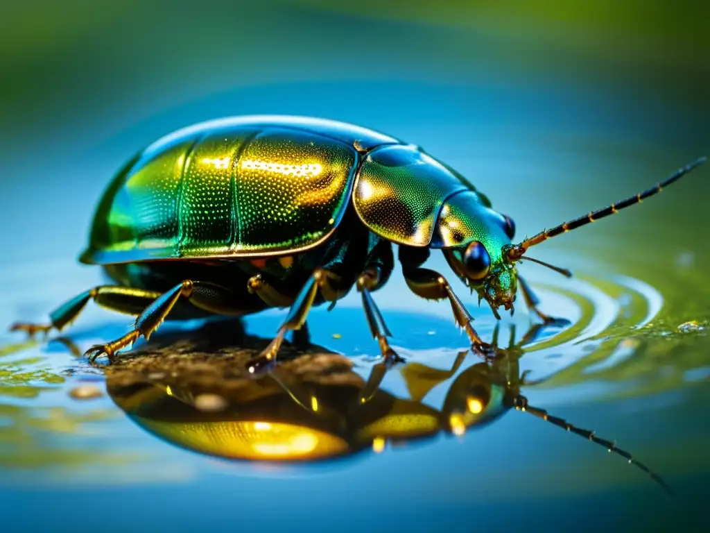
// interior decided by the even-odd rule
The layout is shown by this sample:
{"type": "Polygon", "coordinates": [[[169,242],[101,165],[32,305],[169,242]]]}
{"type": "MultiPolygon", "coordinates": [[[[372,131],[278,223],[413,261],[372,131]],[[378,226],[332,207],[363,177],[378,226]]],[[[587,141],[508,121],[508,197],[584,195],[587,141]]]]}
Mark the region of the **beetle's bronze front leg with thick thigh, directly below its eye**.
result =
{"type": "Polygon", "coordinates": [[[456,296],[456,293],[454,293],[454,290],[444,276],[437,271],[417,268],[405,269],[404,277],[410,290],[417,296],[429,300],[443,300],[444,298],[449,300],[456,323],[466,331],[466,335],[469,335],[471,345],[473,345],[474,348],[483,352],[495,351],[492,345],[484,343],[479,337],[479,334],[476,333],[472,325],[474,318],[464,304],[461,303],[461,300],[456,296]]]}

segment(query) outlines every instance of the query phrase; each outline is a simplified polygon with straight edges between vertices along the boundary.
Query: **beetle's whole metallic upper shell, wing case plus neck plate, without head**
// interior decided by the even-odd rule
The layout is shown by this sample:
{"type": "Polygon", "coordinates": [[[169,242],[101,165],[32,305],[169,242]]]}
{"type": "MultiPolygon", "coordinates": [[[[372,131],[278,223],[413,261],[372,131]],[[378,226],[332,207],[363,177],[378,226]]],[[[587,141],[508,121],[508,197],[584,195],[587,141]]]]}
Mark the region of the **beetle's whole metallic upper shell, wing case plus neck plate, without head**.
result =
{"type": "Polygon", "coordinates": [[[299,252],[332,234],[351,198],[381,237],[451,246],[438,236],[439,213],[464,190],[474,188],[452,169],[370,129],[305,117],[219,119],[155,141],[119,172],[81,261],[299,252]]]}

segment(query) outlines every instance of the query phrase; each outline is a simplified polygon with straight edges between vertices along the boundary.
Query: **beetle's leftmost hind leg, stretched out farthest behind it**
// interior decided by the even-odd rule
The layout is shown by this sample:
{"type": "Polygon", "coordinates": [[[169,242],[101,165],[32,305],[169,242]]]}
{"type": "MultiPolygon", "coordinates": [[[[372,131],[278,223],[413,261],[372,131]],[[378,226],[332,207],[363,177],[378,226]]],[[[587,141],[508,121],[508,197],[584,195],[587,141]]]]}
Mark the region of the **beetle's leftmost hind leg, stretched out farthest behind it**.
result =
{"type": "Polygon", "coordinates": [[[52,329],[60,331],[79,316],[89,300],[94,300],[99,306],[114,311],[137,315],[158,296],[160,296],[158,292],[143,291],[142,289],[111,285],[98,286],[62,303],[50,313],[50,323],[48,324],[15,323],[10,326],[10,330],[26,331],[30,336],[38,331],[43,333],[48,333],[52,329]]]}

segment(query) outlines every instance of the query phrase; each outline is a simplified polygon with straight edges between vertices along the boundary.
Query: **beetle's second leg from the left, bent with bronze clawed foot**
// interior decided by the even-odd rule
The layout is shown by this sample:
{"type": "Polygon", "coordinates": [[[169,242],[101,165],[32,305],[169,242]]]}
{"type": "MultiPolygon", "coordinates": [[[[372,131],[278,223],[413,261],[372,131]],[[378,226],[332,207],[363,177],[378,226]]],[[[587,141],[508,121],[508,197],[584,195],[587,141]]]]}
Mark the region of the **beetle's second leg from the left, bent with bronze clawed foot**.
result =
{"type": "Polygon", "coordinates": [[[118,350],[126,348],[129,344],[133,345],[141,335],[148,340],[153,331],[158,329],[158,326],[163,323],[175,303],[180,299],[180,296],[185,296],[194,306],[206,311],[216,314],[233,314],[229,306],[231,293],[227,289],[204,281],[186,279],[179,285],[174,286],[170,291],[153,298],[153,301],[136,318],[136,323],[133,325],[131,332],[111,343],[93,346],[84,355],[91,362],[94,362],[101,355],[106,355],[109,361],[112,361],[118,350]]]}

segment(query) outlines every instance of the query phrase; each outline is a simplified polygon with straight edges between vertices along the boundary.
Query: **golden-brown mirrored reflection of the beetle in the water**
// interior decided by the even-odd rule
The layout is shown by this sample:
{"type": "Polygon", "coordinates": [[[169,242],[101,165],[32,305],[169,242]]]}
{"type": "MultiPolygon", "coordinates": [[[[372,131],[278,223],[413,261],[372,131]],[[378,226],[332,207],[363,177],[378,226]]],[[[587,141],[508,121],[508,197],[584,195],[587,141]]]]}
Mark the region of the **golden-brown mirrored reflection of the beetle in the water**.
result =
{"type": "MultiPolygon", "coordinates": [[[[107,367],[107,385],[114,402],[151,434],[199,453],[246,461],[304,462],[381,452],[388,443],[442,433],[462,436],[516,409],[618,453],[670,492],[658,475],[615,443],[528,405],[520,387],[532,383],[526,372],[520,373],[519,360],[541,328],[533,326],[517,345],[511,328],[508,348],[496,348],[496,357],[478,359],[461,372],[467,350],[448,370],[417,362],[401,365],[408,398],[381,388],[384,362],[374,365],[365,380],[347,357],[313,345],[297,350],[290,343],[284,346],[288,357],[263,379],[252,379],[235,364],[229,348],[226,359],[210,357],[214,350],[193,348],[174,357],[175,345],[168,344],[158,350],[146,347],[107,367]],[[434,387],[449,381],[439,409],[425,404],[434,387]]],[[[197,337],[204,339],[204,333],[197,337]]],[[[209,338],[221,334],[212,329],[209,338]]],[[[236,359],[268,343],[261,341],[239,340],[239,346],[251,348],[236,359]]],[[[497,344],[498,328],[493,333],[497,344]]]]}

